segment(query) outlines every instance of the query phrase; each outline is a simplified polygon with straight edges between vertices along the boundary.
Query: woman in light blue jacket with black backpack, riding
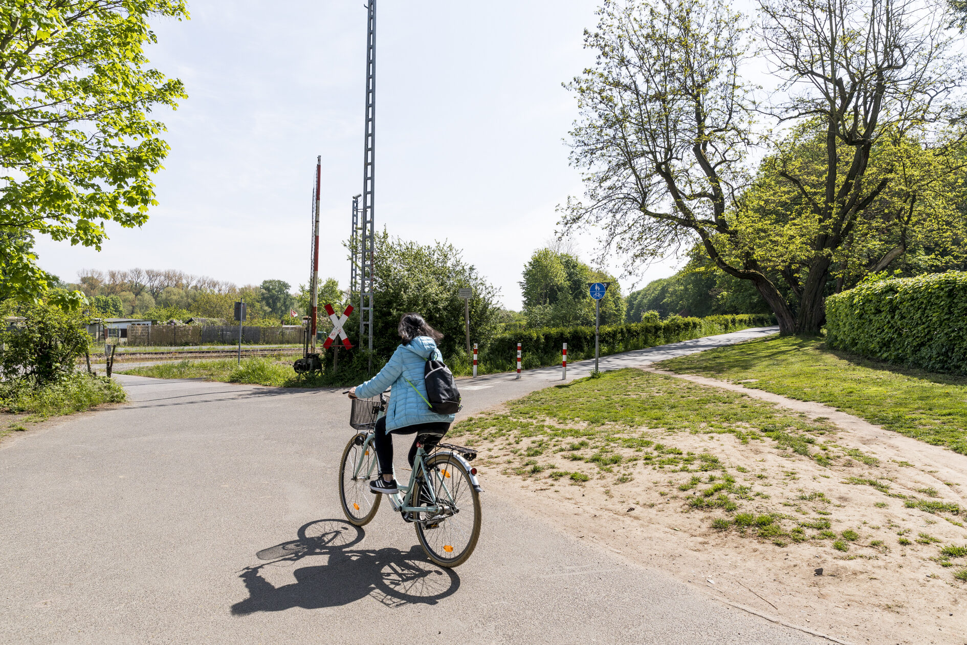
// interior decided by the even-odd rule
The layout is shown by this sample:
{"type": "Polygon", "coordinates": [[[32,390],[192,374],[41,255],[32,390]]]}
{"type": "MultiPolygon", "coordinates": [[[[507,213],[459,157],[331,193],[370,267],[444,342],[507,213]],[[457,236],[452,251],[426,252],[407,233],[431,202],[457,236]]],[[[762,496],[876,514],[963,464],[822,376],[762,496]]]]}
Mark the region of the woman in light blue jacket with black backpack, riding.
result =
{"type": "MultiPolygon", "coordinates": [[[[426,361],[443,360],[436,346],[442,334],[430,327],[419,313],[404,313],[397,328],[402,344],[396,347],[393,358],[379,373],[349,391],[350,397],[372,398],[392,387],[393,392],[387,406],[386,416],[376,422],[373,444],[379,461],[379,474],[369,484],[374,493],[396,493],[396,480],[393,478],[393,434],[435,435],[427,440],[424,450],[429,452],[436,447],[450,425],[454,423],[452,414],[436,414],[426,404],[424,367],[426,361]]],[[[417,454],[417,441],[410,448],[409,462],[417,454]]]]}

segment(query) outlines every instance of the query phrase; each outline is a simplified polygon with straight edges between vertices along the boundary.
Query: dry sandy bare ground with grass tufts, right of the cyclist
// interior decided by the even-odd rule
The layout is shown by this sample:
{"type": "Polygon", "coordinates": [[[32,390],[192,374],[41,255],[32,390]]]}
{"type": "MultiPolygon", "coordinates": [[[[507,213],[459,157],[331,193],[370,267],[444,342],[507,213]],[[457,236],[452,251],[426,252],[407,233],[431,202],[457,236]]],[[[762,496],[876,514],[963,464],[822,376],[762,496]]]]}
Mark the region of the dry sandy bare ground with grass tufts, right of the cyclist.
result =
{"type": "MultiPolygon", "coordinates": [[[[829,530],[837,537],[846,530],[859,534],[855,541],[843,541],[848,551],[836,550],[832,538],[777,545],[753,537],[754,531],[745,536],[734,528],[717,531],[711,528],[712,519],[724,513],[686,511],[686,500],[694,490],[683,492],[678,486],[694,473],[657,470],[641,462],[622,467],[630,468],[632,477],[625,484],[616,484],[614,474],[602,474],[585,484],[543,475],[522,479],[498,465],[510,454],[509,445],[484,443],[480,459],[484,487],[579,539],[671,572],[722,601],[836,642],[967,645],[967,584],[953,578],[953,572],[967,567],[967,557],[953,558],[948,567],[938,557],[944,545],[967,545],[967,529],[962,525],[967,517],[924,513],[890,496],[900,493],[964,507],[967,456],[820,404],[714,379],[682,378],[741,390],[811,419],[827,418],[835,424],[838,446],[860,449],[879,460],[869,465],[838,459],[837,465],[824,468],[799,454],[777,450],[775,442],[743,445],[732,434],[680,433],[669,439],[683,450],[718,454],[730,469],[745,468],[747,473],[741,475],[731,472],[744,480],[740,483],[768,491],[768,499],[756,496],[740,511],[781,513],[785,527],[795,526],[797,517],[818,513],[830,520],[829,530]],[[849,484],[851,477],[876,480],[889,489],[849,484]],[[929,489],[936,491],[936,497],[924,495],[923,490],[929,489]],[[901,544],[901,539],[910,543],[901,544]]],[[[555,457],[542,459],[550,462],[555,457]]],[[[560,461],[560,455],[556,459],[560,461]]],[[[810,538],[817,532],[806,529],[810,538]]]]}

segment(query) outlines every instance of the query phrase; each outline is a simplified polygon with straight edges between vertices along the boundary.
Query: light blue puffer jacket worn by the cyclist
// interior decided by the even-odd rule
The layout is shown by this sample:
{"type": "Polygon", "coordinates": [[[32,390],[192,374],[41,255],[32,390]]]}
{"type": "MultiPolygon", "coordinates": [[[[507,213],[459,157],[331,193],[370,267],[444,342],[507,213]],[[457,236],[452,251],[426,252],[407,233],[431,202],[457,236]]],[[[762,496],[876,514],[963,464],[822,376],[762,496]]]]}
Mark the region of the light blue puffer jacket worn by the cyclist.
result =
{"type": "Polygon", "coordinates": [[[379,373],[370,378],[363,385],[356,386],[356,396],[372,398],[393,387],[390,394],[390,404],[386,409],[386,429],[396,430],[406,425],[428,424],[433,422],[454,423],[452,414],[436,414],[426,405],[426,401],[413,391],[410,384],[404,380],[410,379],[420,395],[426,397],[426,385],[423,372],[426,361],[433,356],[437,361],[443,360],[443,355],[437,349],[433,338],[419,336],[410,340],[408,345],[399,345],[393,353],[393,358],[379,373]]]}

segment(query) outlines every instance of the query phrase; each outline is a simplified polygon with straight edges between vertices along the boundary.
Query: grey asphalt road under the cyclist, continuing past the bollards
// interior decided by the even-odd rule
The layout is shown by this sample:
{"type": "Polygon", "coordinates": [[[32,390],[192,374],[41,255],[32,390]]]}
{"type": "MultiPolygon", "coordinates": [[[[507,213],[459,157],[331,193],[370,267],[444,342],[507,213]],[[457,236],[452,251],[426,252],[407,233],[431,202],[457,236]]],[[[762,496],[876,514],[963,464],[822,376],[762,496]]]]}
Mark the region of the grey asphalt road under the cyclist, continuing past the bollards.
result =
{"type": "MultiPolygon", "coordinates": [[[[555,376],[477,379],[462,387],[465,413],[555,376]]],[[[473,557],[438,569],[388,505],[365,531],[341,520],[337,459],[351,430],[339,393],[119,380],[130,403],[0,444],[2,643],[823,642],[492,493],[473,557]]]]}

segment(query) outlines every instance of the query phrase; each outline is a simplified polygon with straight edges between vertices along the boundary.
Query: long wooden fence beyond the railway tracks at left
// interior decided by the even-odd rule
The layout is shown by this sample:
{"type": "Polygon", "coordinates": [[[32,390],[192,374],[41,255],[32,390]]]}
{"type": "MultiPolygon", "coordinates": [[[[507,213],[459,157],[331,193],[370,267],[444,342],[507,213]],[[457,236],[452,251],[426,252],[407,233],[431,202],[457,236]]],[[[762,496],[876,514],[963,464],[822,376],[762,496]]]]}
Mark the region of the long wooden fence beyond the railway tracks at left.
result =
{"type": "MultiPolygon", "coordinates": [[[[282,345],[305,342],[306,328],[301,325],[285,327],[242,327],[242,342],[250,344],[282,345]]],[[[204,343],[233,344],[239,341],[235,325],[131,325],[128,345],[200,345],[204,343]]]]}

